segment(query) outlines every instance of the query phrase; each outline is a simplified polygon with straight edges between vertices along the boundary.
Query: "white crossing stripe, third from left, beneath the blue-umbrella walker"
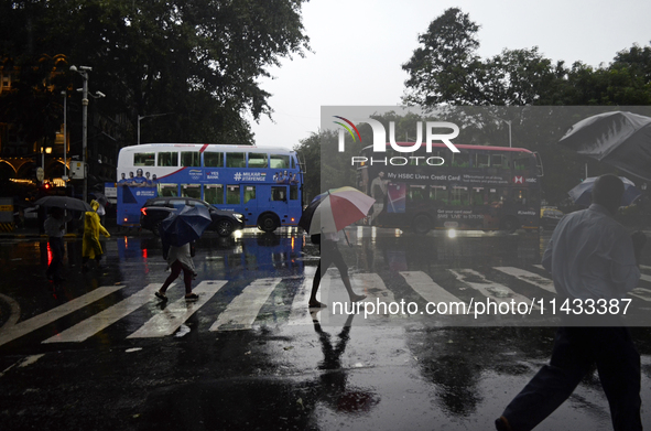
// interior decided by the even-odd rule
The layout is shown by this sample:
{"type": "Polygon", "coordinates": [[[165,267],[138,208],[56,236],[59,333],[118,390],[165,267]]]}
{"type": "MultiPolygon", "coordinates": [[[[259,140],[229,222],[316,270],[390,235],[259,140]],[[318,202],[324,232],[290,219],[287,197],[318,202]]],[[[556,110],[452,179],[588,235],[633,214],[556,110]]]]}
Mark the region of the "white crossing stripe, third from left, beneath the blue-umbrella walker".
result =
{"type": "Polygon", "coordinates": [[[192,291],[199,295],[198,301],[187,302],[185,298],[171,303],[165,309],[150,319],[133,334],[127,338],[152,338],[172,335],[174,332],[189,319],[198,309],[202,308],[215,293],[219,291],[227,280],[205,280],[202,281],[192,291]]]}

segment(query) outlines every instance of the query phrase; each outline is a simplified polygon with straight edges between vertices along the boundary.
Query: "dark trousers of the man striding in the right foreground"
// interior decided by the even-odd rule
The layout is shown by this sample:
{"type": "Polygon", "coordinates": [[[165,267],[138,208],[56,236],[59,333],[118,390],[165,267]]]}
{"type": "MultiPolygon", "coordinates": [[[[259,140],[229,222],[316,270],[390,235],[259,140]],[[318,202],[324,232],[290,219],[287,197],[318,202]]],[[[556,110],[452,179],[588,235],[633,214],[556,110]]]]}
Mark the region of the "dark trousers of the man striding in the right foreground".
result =
{"type": "Polygon", "coordinates": [[[626,327],[560,327],[552,358],[503,412],[513,431],[550,416],[597,366],[615,430],[641,430],[640,354],[626,327]]]}

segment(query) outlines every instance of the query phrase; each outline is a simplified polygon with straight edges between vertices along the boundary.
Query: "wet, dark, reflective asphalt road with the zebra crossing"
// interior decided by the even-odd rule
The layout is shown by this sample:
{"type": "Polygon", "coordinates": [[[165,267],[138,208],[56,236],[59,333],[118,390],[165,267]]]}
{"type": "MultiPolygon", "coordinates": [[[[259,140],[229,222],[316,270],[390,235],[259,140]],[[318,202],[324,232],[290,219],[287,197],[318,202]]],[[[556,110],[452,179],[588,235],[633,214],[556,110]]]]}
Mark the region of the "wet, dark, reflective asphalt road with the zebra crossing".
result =
{"type": "MultiPolygon", "coordinates": [[[[545,277],[535,266],[547,234],[348,235],[341,249],[369,301],[424,306],[415,274],[466,302],[477,283],[544,294],[531,283],[545,277]]],[[[115,234],[104,246],[102,267],[82,272],[80,241],[67,240],[67,280],[54,289],[45,243],[0,241],[0,430],[489,430],[551,352],[554,328],[527,322],[310,314],[318,254],[293,231],[203,238],[195,304],[178,284],[167,304],[154,299],[166,277],[155,238],[115,234]]],[[[344,301],[328,276],[322,301],[344,301]]],[[[651,332],[633,335],[649,427],[651,332]]],[[[539,429],[610,428],[595,375],[539,429]]]]}

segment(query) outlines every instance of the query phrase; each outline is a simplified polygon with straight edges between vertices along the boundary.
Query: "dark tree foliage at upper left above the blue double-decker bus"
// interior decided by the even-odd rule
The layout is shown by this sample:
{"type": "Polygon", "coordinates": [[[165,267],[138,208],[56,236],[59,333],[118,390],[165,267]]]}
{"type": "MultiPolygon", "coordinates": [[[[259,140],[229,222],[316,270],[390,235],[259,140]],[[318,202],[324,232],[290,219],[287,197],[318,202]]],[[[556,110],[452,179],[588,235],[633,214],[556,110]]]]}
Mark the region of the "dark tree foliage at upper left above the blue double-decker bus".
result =
{"type": "MultiPolygon", "coordinates": [[[[138,116],[167,114],[142,122],[149,141],[251,143],[247,117],[272,112],[259,78],[281,57],[310,50],[302,3],[3,2],[0,58],[4,69],[19,68],[22,82],[44,53],[63,54],[67,65],[56,71],[65,73],[69,88],[80,86],[69,65],[91,66],[90,89],[107,95],[106,114],[126,115],[133,126],[138,116]]],[[[20,97],[29,99],[29,88],[25,80],[20,97]]],[[[53,93],[56,99],[59,90],[53,93]]]]}

